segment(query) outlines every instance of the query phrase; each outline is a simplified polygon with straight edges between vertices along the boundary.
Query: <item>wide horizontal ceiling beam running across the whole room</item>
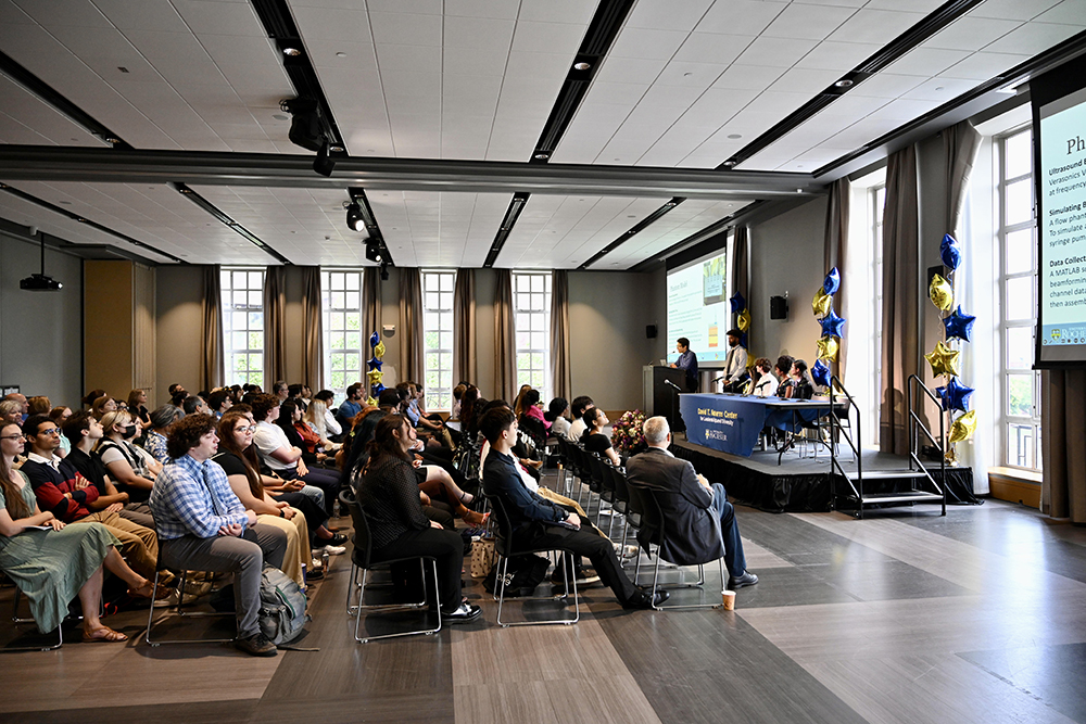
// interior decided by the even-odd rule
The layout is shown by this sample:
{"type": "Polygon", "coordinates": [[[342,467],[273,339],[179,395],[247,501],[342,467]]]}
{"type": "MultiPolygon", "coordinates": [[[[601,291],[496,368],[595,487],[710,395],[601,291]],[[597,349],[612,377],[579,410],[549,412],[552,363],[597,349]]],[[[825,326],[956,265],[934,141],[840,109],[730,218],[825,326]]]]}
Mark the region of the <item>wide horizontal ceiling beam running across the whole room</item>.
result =
{"type": "Polygon", "coordinates": [[[0,178],[344,190],[363,187],[367,191],[684,196],[747,202],[824,193],[823,185],[810,174],[781,172],[351,157],[336,165],[334,178],[326,178],[313,173],[308,156],[296,154],[42,145],[0,145],[0,178]]]}

